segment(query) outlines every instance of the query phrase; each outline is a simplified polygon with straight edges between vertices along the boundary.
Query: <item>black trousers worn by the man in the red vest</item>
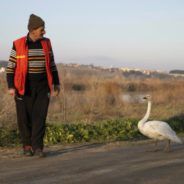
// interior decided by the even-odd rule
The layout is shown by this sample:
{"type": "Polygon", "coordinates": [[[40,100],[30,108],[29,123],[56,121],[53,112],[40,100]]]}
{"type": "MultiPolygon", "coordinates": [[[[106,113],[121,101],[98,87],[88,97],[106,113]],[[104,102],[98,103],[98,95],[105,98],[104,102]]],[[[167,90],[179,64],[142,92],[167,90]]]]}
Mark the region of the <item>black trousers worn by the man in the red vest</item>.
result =
{"type": "Polygon", "coordinates": [[[17,121],[23,146],[30,145],[33,150],[43,149],[49,96],[46,79],[27,79],[25,95],[15,96],[17,121]]]}

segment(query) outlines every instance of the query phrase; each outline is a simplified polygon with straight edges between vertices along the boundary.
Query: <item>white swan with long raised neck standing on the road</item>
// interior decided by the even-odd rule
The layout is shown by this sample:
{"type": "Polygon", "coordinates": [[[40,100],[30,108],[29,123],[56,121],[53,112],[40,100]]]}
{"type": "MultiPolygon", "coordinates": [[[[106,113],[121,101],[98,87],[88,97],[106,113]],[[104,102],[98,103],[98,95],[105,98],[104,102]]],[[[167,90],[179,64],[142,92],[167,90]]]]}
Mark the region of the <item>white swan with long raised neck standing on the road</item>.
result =
{"type": "Polygon", "coordinates": [[[170,150],[171,141],[182,144],[181,139],[176,135],[175,131],[172,130],[172,128],[166,122],[156,120],[147,121],[151,111],[151,96],[147,95],[144,97],[144,99],[148,100],[148,107],[145,116],[138,122],[139,131],[143,135],[154,139],[156,141],[155,145],[157,145],[158,140],[166,140],[167,143],[164,149],[165,151],[170,150]]]}

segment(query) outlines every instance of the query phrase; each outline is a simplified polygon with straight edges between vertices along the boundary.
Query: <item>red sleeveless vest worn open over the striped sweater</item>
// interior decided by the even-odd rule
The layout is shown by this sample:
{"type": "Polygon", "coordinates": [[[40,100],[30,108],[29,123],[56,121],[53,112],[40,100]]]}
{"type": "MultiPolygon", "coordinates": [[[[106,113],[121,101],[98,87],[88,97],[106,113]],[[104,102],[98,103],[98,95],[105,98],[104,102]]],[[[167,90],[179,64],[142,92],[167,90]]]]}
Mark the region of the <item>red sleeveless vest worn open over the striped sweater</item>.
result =
{"type": "MultiPolygon", "coordinates": [[[[25,93],[25,82],[28,70],[28,45],[26,44],[26,39],[27,37],[25,36],[14,41],[14,45],[16,48],[16,69],[14,76],[14,85],[20,95],[24,95],[25,93]]],[[[52,90],[53,79],[52,79],[52,72],[50,69],[50,54],[49,54],[51,51],[51,43],[48,38],[44,38],[41,40],[41,44],[45,54],[48,86],[50,90],[52,90]]]]}

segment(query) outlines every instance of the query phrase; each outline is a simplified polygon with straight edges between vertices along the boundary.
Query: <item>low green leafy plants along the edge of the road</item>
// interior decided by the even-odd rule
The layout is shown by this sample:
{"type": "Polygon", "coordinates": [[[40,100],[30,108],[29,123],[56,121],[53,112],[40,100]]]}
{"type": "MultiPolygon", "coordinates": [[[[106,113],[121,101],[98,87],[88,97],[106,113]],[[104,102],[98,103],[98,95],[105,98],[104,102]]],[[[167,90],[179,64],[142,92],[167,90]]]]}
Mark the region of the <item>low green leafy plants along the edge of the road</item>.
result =
{"type": "MultiPolygon", "coordinates": [[[[184,131],[180,120],[170,120],[170,126],[177,132],[184,131]]],[[[84,143],[139,140],[145,138],[137,129],[136,120],[109,120],[91,124],[47,124],[44,142],[46,145],[57,143],[84,143]]],[[[20,145],[18,130],[0,128],[0,146],[20,145]]]]}

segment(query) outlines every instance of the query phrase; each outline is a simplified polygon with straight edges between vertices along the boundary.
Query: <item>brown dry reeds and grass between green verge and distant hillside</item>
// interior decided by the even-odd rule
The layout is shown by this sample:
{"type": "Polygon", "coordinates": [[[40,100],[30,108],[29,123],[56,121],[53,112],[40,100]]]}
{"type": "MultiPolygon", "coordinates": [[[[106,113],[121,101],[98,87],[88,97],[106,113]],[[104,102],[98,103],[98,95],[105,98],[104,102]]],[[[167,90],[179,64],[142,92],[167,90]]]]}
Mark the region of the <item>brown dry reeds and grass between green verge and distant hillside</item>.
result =
{"type": "MultiPolygon", "coordinates": [[[[151,94],[153,99],[151,119],[170,119],[183,116],[184,80],[124,79],[121,75],[58,67],[62,91],[52,97],[48,113],[49,122],[86,122],[107,119],[140,119],[147,104],[136,95],[151,94]],[[123,95],[132,97],[129,102],[123,95]]],[[[14,101],[7,94],[5,76],[0,80],[0,124],[14,126],[16,115],[14,101]]]]}

